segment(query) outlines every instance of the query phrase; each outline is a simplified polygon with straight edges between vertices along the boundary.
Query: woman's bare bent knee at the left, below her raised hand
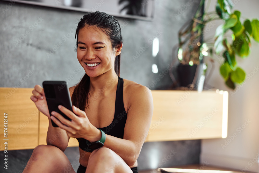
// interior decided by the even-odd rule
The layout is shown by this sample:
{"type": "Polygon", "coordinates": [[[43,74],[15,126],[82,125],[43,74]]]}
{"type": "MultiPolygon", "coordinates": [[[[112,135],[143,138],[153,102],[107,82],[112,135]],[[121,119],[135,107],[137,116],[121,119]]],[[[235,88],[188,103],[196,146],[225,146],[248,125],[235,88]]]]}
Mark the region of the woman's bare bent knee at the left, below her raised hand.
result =
{"type": "Polygon", "coordinates": [[[27,172],[73,172],[67,156],[59,148],[50,145],[39,145],[32,153],[24,171],[27,172]]]}

